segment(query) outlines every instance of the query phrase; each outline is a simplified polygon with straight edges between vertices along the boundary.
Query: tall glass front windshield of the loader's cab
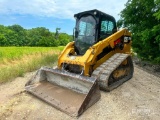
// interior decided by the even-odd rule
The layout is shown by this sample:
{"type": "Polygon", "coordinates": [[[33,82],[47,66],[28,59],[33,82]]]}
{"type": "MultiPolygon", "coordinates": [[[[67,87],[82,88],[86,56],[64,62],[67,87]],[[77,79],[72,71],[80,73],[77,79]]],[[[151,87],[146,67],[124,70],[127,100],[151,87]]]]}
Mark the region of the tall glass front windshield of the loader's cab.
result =
{"type": "Polygon", "coordinates": [[[78,54],[84,54],[87,49],[95,43],[96,20],[91,16],[83,16],[77,24],[78,35],[75,41],[75,47],[78,54]]]}

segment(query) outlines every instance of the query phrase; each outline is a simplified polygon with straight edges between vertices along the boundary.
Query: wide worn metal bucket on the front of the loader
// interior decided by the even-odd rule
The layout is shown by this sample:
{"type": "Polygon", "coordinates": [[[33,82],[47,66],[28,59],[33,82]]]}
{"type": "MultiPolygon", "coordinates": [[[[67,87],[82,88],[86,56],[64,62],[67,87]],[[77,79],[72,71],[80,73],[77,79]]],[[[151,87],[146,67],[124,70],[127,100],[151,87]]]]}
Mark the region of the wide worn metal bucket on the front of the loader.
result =
{"type": "Polygon", "coordinates": [[[71,116],[79,116],[100,99],[96,78],[47,67],[39,69],[25,89],[71,116]]]}

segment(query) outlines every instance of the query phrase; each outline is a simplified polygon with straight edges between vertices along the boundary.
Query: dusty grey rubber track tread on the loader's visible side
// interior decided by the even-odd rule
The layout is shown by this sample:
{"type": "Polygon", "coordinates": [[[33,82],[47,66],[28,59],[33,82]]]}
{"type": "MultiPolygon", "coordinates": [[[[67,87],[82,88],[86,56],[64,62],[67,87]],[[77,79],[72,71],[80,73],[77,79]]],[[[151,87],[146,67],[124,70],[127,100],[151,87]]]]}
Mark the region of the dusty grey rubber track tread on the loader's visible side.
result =
{"type": "Polygon", "coordinates": [[[108,87],[109,77],[128,56],[129,54],[116,53],[93,71],[92,77],[96,77],[98,79],[100,89],[106,91],[111,90],[108,87]]]}

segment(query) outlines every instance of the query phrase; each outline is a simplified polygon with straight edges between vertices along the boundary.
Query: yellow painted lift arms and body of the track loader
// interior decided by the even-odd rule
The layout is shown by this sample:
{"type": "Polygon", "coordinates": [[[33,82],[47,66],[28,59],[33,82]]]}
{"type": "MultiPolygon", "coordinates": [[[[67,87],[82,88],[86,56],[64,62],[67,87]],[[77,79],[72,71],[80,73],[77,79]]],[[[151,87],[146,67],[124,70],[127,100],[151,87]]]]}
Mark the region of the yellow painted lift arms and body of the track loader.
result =
{"type": "Polygon", "coordinates": [[[82,70],[84,70],[85,76],[90,76],[90,69],[95,70],[115,53],[131,54],[131,42],[124,43],[123,50],[120,50],[119,48],[115,47],[115,41],[120,38],[124,38],[125,36],[131,37],[131,33],[127,29],[122,29],[107,37],[106,39],[99,41],[98,43],[91,46],[82,56],[74,54],[74,42],[70,42],[67,44],[67,46],[64,48],[64,50],[58,58],[58,68],[62,69],[64,63],[78,65],[82,67],[82,70]],[[111,48],[115,49],[106,54],[100,60],[97,60],[97,56],[101,54],[103,49],[107,46],[110,46],[111,48]]]}

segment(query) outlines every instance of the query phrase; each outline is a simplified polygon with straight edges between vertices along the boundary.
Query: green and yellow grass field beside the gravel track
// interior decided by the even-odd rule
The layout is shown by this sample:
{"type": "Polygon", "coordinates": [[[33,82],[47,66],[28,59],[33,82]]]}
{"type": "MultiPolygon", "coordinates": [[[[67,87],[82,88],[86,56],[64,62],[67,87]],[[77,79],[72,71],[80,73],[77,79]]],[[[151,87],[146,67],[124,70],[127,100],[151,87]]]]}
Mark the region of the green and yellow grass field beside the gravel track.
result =
{"type": "Polygon", "coordinates": [[[0,47],[0,83],[53,66],[64,47],[0,47]]]}

